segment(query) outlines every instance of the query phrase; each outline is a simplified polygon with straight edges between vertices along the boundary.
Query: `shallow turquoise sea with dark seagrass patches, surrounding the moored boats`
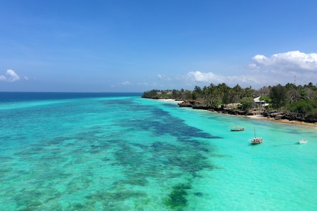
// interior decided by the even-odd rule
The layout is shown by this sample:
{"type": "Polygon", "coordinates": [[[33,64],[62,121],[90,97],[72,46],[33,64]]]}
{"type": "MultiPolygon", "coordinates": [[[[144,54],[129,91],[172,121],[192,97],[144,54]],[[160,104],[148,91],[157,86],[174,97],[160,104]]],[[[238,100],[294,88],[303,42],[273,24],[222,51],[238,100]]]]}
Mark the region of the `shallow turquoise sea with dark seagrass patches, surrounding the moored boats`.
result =
{"type": "Polygon", "coordinates": [[[139,96],[1,102],[1,210],[317,210],[316,128],[139,96]]]}

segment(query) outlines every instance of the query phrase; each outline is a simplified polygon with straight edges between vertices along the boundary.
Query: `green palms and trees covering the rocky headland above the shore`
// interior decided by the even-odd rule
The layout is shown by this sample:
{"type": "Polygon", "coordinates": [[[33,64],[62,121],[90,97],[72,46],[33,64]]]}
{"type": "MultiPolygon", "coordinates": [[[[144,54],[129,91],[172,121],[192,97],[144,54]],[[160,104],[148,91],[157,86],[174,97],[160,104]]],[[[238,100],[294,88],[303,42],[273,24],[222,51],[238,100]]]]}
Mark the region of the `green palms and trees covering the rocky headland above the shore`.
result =
{"type": "Polygon", "coordinates": [[[175,99],[182,101],[194,101],[201,105],[211,107],[228,104],[236,105],[235,109],[279,112],[294,112],[310,117],[317,116],[317,84],[309,82],[307,85],[296,86],[287,83],[285,86],[264,86],[258,90],[252,87],[242,88],[239,85],[229,87],[226,83],[215,85],[210,83],[203,88],[195,86],[193,90],[151,90],[143,93],[142,97],[152,99],[175,99]],[[254,98],[265,102],[265,106],[258,106],[254,98]]]}

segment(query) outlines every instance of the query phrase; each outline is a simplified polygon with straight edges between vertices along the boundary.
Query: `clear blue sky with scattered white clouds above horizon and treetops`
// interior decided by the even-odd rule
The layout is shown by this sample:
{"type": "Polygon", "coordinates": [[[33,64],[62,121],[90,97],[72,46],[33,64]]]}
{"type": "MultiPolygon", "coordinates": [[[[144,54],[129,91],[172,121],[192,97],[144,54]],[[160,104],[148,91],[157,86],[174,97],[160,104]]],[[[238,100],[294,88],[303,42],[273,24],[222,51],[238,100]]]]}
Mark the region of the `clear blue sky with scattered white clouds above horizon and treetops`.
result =
{"type": "Polygon", "coordinates": [[[317,83],[315,0],[2,0],[0,92],[317,83]]]}

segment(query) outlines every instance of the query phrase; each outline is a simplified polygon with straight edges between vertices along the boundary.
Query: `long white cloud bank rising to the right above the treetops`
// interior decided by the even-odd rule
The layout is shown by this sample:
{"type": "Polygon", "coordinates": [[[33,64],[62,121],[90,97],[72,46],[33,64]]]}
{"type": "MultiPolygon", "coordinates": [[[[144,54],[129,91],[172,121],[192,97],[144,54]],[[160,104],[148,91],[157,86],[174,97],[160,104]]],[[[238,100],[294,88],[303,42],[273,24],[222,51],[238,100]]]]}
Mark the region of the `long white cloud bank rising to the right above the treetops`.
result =
{"type": "MultiPolygon", "coordinates": [[[[259,89],[263,86],[275,86],[278,83],[285,85],[294,82],[304,85],[317,81],[317,54],[305,54],[299,51],[274,54],[272,56],[255,55],[253,64],[235,67],[230,72],[216,70],[210,72],[190,71],[177,75],[173,80],[168,76],[157,75],[160,79],[169,79],[167,84],[161,86],[193,89],[194,86],[209,86],[210,83],[218,85],[226,83],[229,87],[239,84],[241,87],[259,89]],[[177,86],[177,87],[176,87],[177,86]]],[[[228,69],[225,67],[224,69],[228,69]]],[[[167,81],[167,80],[166,80],[167,81]]],[[[153,84],[151,86],[159,86],[153,84]]]]}

